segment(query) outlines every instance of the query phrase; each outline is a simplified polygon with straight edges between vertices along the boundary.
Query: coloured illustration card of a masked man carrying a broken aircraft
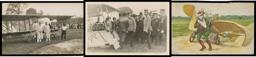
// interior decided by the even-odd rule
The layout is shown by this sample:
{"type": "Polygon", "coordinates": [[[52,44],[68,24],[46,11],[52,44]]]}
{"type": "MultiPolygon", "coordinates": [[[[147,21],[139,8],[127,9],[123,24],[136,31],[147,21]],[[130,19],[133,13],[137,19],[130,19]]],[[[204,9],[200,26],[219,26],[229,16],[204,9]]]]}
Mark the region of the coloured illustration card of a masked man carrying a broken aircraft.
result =
{"type": "Polygon", "coordinates": [[[254,54],[254,3],[172,3],[172,54],[254,54]]]}

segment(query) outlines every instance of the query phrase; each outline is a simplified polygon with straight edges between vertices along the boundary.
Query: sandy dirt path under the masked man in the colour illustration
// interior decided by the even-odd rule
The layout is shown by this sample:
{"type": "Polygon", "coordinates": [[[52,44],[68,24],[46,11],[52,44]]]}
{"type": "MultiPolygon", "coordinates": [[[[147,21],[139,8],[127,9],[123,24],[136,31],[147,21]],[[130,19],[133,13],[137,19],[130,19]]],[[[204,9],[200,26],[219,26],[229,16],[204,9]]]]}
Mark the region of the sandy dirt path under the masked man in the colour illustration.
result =
{"type": "Polygon", "coordinates": [[[210,40],[212,51],[208,50],[209,45],[206,41],[203,41],[206,49],[199,51],[202,46],[196,40],[197,38],[190,42],[190,35],[186,35],[172,38],[172,54],[254,54],[254,23],[246,26],[246,28],[251,31],[253,36],[251,43],[246,47],[241,46],[245,37],[243,35],[238,36],[236,41],[229,41],[229,38],[220,38],[220,45],[215,45],[214,40],[210,40]]]}

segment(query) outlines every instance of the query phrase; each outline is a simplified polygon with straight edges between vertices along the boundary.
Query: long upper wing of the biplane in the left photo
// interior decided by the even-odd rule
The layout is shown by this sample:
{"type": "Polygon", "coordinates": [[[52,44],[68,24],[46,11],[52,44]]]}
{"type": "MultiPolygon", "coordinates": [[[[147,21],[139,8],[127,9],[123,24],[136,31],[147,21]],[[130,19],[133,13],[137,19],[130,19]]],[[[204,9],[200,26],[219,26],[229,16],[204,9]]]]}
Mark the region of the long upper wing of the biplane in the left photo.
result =
{"type": "Polygon", "coordinates": [[[2,21],[24,21],[30,18],[49,18],[50,20],[67,20],[73,16],[52,16],[52,15],[2,15],[2,21]]]}

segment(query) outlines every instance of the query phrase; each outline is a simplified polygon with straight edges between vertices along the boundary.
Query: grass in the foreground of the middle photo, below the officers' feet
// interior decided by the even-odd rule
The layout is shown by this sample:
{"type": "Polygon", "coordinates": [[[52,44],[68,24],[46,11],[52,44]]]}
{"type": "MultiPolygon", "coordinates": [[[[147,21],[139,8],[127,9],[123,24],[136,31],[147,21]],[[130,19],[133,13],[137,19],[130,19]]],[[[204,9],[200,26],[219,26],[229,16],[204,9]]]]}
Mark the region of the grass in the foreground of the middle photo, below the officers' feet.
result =
{"type": "Polygon", "coordinates": [[[143,49],[148,47],[148,44],[134,43],[134,47],[130,47],[130,44],[124,45],[124,49],[116,49],[113,45],[111,47],[88,47],[87,53],[166,53],[161,51],[164,49],[163,45],[155,46],[151,45],[151,49],[143,49]]]}

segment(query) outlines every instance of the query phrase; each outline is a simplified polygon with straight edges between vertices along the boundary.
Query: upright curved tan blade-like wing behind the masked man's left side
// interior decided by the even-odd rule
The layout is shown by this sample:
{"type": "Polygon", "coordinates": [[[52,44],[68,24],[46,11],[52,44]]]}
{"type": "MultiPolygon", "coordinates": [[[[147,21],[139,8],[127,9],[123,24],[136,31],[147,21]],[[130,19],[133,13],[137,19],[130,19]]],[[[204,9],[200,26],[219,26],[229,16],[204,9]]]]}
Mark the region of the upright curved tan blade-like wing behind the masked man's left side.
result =
{"type": "Polygon", "coordinates": [[[189,23],[188,29],[190,30],[196,30],[197,28],[194,27],[194,24],[196,23],[196,7],[194,5],[186,4],[183,6],[183,11],[186,15],[192,17],[191,21],[189,23]]]}

